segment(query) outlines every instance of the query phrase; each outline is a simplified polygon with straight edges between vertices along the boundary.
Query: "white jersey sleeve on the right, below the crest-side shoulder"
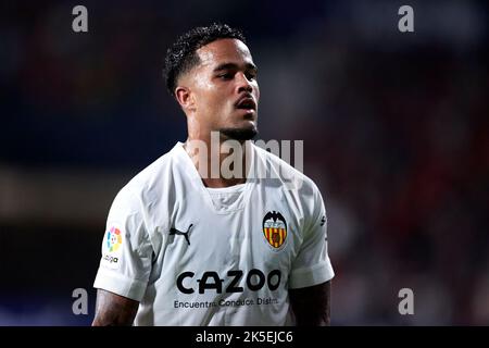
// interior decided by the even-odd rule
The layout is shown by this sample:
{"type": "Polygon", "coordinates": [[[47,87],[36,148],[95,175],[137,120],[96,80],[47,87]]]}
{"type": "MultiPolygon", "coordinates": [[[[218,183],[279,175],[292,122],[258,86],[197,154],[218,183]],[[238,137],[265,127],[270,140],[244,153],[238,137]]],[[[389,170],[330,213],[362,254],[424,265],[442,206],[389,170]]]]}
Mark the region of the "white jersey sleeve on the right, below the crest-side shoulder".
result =
{"type": "Polygon", "coordinates": [[[304,236],[292,263],[289,288],[318,285],[335,276],[328,256],[326,209],[321,192],[315,186],[312,200],[313,213],[305,216],[304,236]]]}

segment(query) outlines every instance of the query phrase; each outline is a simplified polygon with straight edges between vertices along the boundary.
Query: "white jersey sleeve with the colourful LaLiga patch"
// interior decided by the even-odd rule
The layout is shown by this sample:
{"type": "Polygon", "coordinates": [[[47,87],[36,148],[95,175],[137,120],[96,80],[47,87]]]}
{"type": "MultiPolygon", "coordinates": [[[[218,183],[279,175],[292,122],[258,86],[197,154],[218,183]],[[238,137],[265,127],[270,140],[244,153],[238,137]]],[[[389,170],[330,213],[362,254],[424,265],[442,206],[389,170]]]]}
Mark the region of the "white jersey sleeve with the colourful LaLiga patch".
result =
{"type": "Polygon", "coordinates": [[[138,197],[123,188],[109,211],[95,288],[142,299],[153,256],[142,216],[138,197]]]}

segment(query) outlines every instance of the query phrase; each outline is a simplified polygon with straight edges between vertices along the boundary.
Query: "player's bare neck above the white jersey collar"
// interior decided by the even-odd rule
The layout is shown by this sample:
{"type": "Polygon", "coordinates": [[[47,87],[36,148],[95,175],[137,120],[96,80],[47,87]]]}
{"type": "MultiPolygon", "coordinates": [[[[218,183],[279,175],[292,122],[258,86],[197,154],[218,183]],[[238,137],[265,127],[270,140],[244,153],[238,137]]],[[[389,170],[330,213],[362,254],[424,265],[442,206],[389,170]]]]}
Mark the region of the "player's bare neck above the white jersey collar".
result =
{"type": "Polygon", "coordinates": [[[208,137],[191,137],[184,145],[206,187],[243,184],[250,165],[250,141],[226,139],[217,132],[208,137]]]}

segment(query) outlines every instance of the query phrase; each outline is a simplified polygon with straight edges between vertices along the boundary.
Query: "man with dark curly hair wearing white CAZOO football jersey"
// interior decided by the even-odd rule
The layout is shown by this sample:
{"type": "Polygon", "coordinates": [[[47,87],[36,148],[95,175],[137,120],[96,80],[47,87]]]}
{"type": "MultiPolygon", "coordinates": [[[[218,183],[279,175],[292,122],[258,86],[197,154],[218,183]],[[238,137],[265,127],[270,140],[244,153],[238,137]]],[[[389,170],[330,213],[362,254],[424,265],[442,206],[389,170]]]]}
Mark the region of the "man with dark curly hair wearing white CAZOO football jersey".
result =
{"type": "Polygon", "coordinates": [[[227,25],[195,28],[165,63],[188,139],[117,194],[93,325],[328,325],[323,199],[311,179],[248,141],[260,91],[244,37],[227,25]],[[243,175],[212,175],[231,156],[221,150],[226,141],[242,146],[228,169],[244,166],[243,175]]]}

